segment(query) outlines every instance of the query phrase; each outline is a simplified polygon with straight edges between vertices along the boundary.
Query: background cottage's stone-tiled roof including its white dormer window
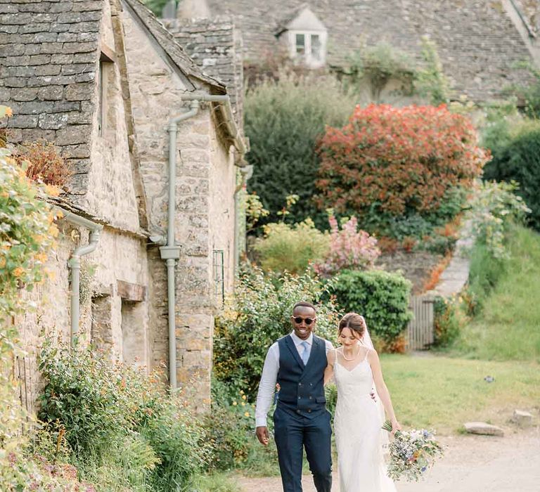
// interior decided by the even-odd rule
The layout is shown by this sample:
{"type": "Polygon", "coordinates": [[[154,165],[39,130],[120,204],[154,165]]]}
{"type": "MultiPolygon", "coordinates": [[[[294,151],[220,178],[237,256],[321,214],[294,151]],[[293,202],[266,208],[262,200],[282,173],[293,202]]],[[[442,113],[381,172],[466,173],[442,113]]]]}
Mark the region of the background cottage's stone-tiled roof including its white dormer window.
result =
{"type": "Polygon", "coordinates": [[[420,60],[421,39],[428,36],[456,96],[473,101],[528,81],[518,63],[540,66],[536,0],[172,0],[164,15],[175,12],[177,18],[230,15],[248,63],[283,53],[311,68],[339,71],[354,51],[380,43],[420,60]]]}

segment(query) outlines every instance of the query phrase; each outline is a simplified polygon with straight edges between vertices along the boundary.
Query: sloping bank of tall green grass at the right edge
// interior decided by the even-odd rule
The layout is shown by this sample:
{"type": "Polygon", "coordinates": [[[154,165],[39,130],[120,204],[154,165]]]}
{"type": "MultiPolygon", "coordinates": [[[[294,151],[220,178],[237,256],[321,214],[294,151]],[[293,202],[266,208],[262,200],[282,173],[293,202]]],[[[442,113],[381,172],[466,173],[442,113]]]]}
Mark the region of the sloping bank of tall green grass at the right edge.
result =
{"type": "Polygon", "coordinates": [[[515,228],[510,254],[481,313],[456,342],[456,356],[540,363],[540,234],[515,228]]]}

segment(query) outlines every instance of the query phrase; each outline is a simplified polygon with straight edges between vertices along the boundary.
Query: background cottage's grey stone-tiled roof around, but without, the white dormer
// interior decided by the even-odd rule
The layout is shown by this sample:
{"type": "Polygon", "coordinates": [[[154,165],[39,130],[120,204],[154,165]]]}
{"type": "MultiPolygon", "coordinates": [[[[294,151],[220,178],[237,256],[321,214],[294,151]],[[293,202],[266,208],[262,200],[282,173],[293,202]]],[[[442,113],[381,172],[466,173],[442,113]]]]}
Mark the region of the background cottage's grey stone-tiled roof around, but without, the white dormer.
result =
{"type": "MultiPolygon", "coordinates": [[[[516,6],[533,0],[513,0],[516,6]]],[[[520,32],[501,2],[490,0],[207,0],[212,15],[232,15],[243,34],[245,58],[275,51],[283,18],[302,4],[328,29],[330,65],[363,44],[387,42],[420,60],[421,38],[437,44],[457,93],[475,101],[499,96],[508,84],[527,82],[515,65],[531,60],[520,32]]],[[[530,18],[530,16],[529,16],[530,18]]],[[[540,46],[539,46],[540,48],[540,46]]]]}

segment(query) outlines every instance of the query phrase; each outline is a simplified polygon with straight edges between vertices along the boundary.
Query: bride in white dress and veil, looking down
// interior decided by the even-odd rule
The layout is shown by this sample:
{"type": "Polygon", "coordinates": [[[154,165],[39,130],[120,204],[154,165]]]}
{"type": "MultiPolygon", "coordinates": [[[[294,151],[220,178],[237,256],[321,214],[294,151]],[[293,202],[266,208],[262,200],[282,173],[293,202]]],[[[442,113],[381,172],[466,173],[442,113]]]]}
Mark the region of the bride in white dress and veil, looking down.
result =
{"type": "Polygon", "coordinates": [[[324,382],[333,376],[338,387],[334,429],[341,492],[396,492],[394,482],[387,477],[383,458],[387,432],[381,427],[385,410],[392,422],[392,435],[401,426],[394,415],[364,316],[343,316],[338,341],[342,347],[328,351],[324,382]],[[373,383],[379,396],[377,401],[370,395],[373,383]]]}

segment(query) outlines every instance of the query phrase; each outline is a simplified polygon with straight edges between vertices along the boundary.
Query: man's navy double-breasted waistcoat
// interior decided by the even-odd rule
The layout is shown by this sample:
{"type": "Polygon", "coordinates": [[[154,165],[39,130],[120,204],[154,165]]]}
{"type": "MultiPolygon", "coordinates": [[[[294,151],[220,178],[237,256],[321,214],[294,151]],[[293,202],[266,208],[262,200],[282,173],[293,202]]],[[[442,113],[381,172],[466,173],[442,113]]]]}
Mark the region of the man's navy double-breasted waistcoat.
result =
{"type": "Polygon", "coordinates": [[[280,386],[278,406],[297,413],[318,413],[325,408],[324,370],[326,368],[326,342],[313,335],[311,352],[304,365],[295,342],[287,335],[278,339],[280,386]]]}

